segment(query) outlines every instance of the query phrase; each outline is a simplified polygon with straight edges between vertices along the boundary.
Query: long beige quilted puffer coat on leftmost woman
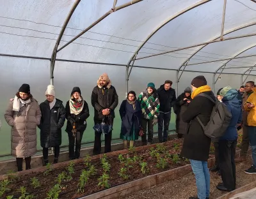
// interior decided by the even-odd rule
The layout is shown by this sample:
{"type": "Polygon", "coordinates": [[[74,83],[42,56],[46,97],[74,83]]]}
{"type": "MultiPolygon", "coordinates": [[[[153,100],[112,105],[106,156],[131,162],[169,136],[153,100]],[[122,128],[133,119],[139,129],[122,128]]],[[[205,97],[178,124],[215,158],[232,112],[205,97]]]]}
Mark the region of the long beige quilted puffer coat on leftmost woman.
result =
{"type": "Polygon", "coordinates": [[[26,106],[18,116],[13,112],[12,100],[4,114],[6,122],[12,126],[11,154],[16,158],[28,158],[36,154],[36,126],[40,124],[41,111],[34,98],[26,106]]]}

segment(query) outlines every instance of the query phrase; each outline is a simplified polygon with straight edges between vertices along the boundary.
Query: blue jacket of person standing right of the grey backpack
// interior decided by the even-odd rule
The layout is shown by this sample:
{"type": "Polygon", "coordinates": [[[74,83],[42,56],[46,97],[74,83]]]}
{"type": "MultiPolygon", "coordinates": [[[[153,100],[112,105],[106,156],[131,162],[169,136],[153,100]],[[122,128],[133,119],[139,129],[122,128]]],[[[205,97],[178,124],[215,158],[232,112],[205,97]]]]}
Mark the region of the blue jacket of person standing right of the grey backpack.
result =
{"type": "Polygon", "coordinates": [[[222,102],[225,103],[228,110],[232,114],[232,119],[229,123],[227,131],[219,140],[237,140],[237,124],[242,122],[242,109],[241,109],[241,100],[237,98],[238,92],[236,89],[231,89],[222,99],[222,102]]]}

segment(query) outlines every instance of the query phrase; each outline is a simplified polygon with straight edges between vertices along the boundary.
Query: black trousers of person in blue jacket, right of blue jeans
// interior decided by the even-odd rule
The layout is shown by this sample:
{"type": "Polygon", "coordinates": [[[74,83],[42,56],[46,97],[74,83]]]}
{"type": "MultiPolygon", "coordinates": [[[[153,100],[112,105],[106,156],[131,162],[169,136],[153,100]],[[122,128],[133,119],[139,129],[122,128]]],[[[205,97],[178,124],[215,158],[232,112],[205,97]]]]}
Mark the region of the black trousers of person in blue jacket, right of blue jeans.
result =
{"type": "Polygon", "coordinates": [[[219,140],[221,179],[228,190],[236,189],[236,144],[237,140],[219,140]]]}

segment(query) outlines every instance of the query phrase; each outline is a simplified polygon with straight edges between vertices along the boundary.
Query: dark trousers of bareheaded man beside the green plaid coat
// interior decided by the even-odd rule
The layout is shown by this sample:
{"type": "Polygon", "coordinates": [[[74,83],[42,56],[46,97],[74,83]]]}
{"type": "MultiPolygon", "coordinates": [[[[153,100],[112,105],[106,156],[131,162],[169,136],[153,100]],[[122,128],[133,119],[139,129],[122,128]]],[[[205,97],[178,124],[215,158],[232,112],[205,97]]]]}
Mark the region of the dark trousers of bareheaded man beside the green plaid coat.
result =
{"type": "Polygon", "coordinates": [[[158,116],[158,139],[159,142],[166,142],[168,137],[168,131],[169,131],[169,124],[171,120],[171,113],[159,113],[158,116]],[[164,128],[164,133],[163,133],[164,128]]]}

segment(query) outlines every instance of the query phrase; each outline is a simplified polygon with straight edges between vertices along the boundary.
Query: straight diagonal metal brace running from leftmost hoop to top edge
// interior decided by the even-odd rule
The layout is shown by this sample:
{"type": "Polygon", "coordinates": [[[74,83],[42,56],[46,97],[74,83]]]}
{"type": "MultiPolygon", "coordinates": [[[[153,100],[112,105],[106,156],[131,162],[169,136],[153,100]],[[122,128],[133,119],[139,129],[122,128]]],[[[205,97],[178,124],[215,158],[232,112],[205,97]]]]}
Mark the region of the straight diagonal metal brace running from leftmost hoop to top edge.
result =
{"type": "MultiPolygon", "coordinates": [[[[121,6],[117,6],[117,7],[115,7],[115,9],[111,8],[111,10],[109,10],[104,15],[102,15],[102,17],[98,18],[95,22],[93,22],[90,26],[88,26],[86,29],[84,29],[81,33],[77,34],[77,36],[75,36],[72,40],[68,41],[68,43],[65,43],[65,45],[63,45],[61,48],[59,48],[57,50],[57,52],[59,52],[60,50],[62,50],[65,47],[67,47],[67,45],[69,45],[70,43],[75,41],[77,38],[82,36],[84,33],[89,31],[93,26],[99,24],[99,22],[101,22],[104,18],[108,17],[108,15],[110,15],[111,13],[113,13],[115,11],[118,11],[118,10],[121,10],[122,8],[126,8],[127,6],[131,6],[132,4],[138,3],[140,1],[142,1],[142,0],[134,0],[134,1],[131,1],[129,3],[122,4],[121,6]]],[[[115,1],[114,1],[114,4],[115,4],[115,1]]]]}

